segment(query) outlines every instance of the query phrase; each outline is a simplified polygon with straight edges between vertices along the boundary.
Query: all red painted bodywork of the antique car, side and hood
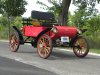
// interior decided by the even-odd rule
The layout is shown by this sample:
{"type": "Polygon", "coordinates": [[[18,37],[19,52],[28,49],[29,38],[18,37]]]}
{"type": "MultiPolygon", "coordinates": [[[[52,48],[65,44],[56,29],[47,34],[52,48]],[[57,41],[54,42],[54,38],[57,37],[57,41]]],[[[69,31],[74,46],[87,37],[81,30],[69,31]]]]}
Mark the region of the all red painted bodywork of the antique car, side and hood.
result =
{"type": "MultiPolygon", "coordinates": [[[[48,34],[52,39],[59,38],[61,36],[68,36],[69,38],[73,38],[77,34],[77,28],[71,26],[55,26],[58,29],[58,33],[54,34],[49,31],[48,34]]],[[[23,32],[24,36],[37,37],[42,31],[44,31],[47,27],[44,26],[24,26],[23,32]]]]}

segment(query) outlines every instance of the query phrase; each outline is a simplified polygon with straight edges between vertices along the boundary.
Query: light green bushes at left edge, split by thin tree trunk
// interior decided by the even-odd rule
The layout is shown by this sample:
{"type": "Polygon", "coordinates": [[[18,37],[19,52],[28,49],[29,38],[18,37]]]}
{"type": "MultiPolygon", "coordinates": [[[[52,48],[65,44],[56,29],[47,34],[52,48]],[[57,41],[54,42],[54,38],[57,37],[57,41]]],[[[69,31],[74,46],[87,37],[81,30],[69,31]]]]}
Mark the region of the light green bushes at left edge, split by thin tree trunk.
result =
{"type": "MultiPolygon", "coordinates": [[[[18,28],[22,27],[22,17],[16,17],[13,21],[10,22],[11,26],[17,26],[18,28]]],[[[0,39],[8,39],[8,20],[7,17],[0,17],[0,39]]]]}

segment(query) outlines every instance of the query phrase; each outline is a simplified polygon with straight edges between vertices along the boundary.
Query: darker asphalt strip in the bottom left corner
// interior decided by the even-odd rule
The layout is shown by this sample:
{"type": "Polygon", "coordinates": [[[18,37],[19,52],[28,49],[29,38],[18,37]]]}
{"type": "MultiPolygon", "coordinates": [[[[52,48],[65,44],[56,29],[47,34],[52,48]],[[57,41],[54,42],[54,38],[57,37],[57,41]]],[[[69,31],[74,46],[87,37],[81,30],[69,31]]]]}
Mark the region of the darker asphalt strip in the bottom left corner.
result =
{"type": "Polygon", "coordinates": [[[37,68],[11,60],[9,58],[0,57],[0,75],[57,75],[37,68]]]}

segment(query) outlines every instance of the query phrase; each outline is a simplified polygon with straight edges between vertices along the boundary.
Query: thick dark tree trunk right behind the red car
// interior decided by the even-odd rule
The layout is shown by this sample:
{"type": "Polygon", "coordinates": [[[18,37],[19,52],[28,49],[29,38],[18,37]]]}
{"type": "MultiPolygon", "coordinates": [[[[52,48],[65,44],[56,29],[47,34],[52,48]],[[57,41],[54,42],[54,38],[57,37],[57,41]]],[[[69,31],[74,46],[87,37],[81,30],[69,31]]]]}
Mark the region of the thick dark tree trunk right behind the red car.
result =
{"type": "Polygon", "coordinates": [[[70,6],[71,0],[63,0],[62,1],[62,13],[59,16],[58,23],[60,25],[66,25],[68,20],[68,10],[70,6]]]}

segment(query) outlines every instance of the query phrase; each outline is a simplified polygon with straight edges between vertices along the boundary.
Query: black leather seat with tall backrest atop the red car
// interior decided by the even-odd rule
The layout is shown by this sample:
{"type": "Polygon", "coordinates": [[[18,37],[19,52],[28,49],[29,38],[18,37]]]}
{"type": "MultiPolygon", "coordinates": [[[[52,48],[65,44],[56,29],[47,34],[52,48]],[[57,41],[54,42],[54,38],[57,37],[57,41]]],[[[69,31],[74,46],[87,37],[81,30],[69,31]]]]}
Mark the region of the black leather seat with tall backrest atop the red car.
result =
{"type": "Polygon", "coordinates": [[[46,27],[52,26],[55,21],[54,14],[51,12],[32,11],[31,18],[39,21],[44,20],[41,25],[46,27]]]}

